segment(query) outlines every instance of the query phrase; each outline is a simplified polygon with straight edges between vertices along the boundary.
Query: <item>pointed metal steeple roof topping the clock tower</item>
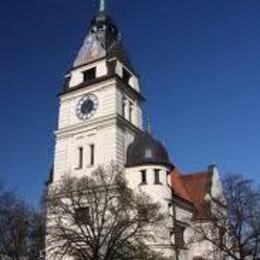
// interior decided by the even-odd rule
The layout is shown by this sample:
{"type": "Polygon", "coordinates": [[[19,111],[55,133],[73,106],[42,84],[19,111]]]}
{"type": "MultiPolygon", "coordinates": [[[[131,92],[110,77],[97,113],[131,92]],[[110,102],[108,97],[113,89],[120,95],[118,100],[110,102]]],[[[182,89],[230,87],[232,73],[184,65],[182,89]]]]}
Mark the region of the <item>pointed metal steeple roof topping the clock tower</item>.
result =
{"type": "Polygon", "coordinates": [[[133,70],[123,48],[117,26],[106,11],[100,9],[91,21],[88,34],[73,67],[80,67],[102,58],[117,58],[130,70],[133,70]]]}

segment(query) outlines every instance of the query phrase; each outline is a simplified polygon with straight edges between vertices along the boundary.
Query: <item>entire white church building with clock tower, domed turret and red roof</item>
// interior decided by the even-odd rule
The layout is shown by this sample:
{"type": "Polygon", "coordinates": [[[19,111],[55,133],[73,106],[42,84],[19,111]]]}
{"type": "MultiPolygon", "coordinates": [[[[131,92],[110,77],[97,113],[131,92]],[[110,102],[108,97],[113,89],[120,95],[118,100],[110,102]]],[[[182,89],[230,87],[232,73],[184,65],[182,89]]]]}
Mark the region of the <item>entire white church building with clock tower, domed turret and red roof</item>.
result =
{"type": "Polygon", "coordinates": [[[218,170],[211,165],[201,172],[181,172],[166,147],[144,129],[145,98],[138,74],[117,25],[100,2],[59,94],[54,168],[48,185],[65,174],[81,177],[113,161],[124,168],[133,190],[141,187],[169,214],[168,238],[151,247],[170,259],[208,259],[210,244],[186,243],[190,223],[206,221],[215,199],[223,200],[218,170]]]}

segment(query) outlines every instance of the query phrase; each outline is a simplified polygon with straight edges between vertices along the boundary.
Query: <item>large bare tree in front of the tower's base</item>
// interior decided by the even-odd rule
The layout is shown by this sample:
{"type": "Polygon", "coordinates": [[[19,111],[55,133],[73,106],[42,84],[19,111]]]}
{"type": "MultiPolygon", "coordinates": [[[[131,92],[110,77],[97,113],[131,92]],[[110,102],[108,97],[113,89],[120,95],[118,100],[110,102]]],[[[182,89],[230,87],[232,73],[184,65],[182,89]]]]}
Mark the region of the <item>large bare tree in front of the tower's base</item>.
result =
{"type": "Polygon", "coordinates": [[[54,259],[164,259],[145,243],[156,239],[152,228],[160,230],[160,206],[134,194],[115,166],[91,177],[64,176],[49,189],[47,212],[47,251],[54,259]]]}

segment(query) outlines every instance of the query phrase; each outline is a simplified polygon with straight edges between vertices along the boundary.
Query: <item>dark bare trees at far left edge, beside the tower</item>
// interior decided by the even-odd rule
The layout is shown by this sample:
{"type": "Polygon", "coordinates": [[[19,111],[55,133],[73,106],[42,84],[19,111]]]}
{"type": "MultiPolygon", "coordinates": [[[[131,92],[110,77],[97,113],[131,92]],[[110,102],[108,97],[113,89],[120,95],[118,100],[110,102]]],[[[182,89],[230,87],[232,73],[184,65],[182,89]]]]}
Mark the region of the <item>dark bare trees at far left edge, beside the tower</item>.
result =
{"type": "Polygon", "coordinates": [[[36,260],[44,249],[44,215],[0,187],[0,259],[36,260]]]}

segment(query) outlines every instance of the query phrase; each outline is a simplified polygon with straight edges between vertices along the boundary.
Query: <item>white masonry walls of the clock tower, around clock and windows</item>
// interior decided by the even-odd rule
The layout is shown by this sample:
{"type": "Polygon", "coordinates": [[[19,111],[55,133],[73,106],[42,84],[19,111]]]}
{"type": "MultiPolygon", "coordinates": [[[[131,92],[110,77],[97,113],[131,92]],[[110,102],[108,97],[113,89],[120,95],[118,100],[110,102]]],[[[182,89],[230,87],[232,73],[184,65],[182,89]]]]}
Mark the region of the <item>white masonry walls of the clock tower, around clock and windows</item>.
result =
{"type": "MultiPolygon", "coordinates": [[[[100,66],[104,62],[100,61],[96,65],[100,66]]],[[[88,69],[88,66],[85,69],[88,69]]],[[[70,88],[73,88],[75,82],[81,83],[79,80],[82,70],[83,68],[80,68],[71,72],[70,88]]],[[[105,72],[106,70],[102,73],[105,72]]],[[[137,100],[129,90],[124,90],[124,87],[115,78],[111,78],[60,96],[54,181],[64,174],[81,176],[83,172],[90,172],[93,167],[111,161],[124,166],[126,149],[133,141],[135,133],[142,130],[140,100],[137,100]],[[82,97],[89,94],[96,96],[98,107],[90,119],[82,121],[77,117],[77,104],[82,97]],[[131,119],[128,112],[130,104],[133,110],[131,119]],[[94,165],[90,165],[90,145],[95,146],[94,165]],[[83,148],[83,167],[80,169],[78,169],[79,148],[83,148]]]]}

